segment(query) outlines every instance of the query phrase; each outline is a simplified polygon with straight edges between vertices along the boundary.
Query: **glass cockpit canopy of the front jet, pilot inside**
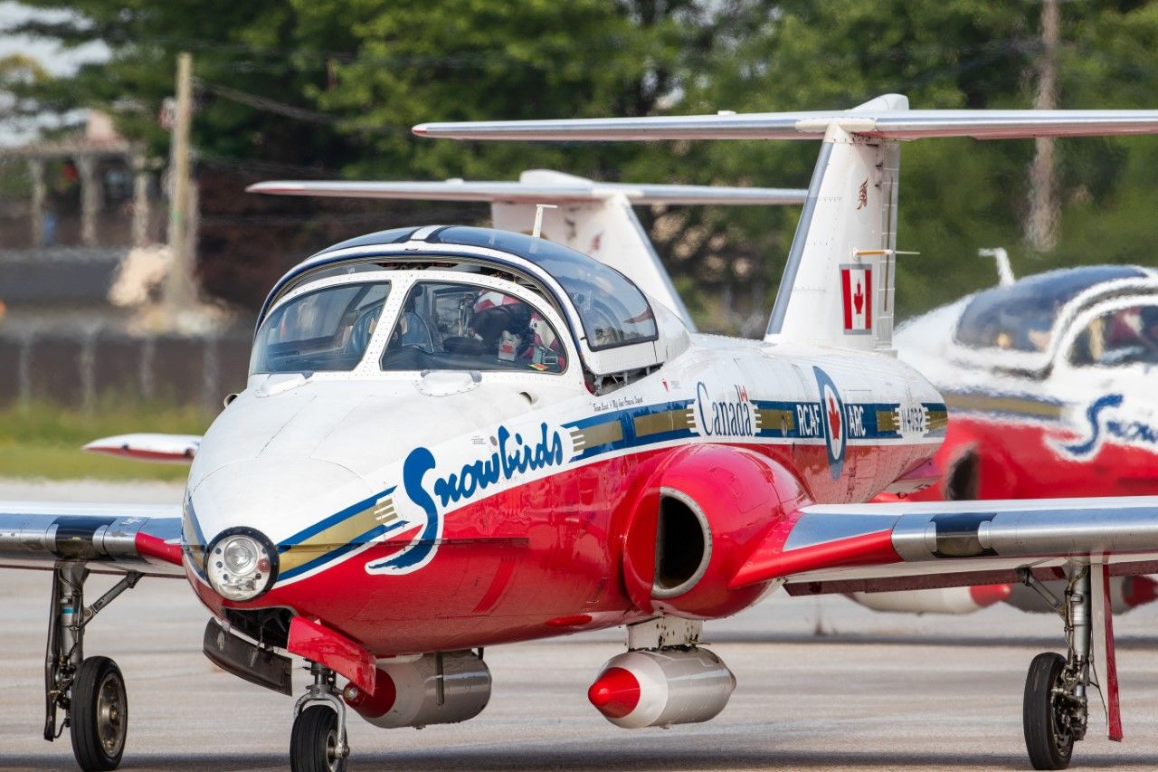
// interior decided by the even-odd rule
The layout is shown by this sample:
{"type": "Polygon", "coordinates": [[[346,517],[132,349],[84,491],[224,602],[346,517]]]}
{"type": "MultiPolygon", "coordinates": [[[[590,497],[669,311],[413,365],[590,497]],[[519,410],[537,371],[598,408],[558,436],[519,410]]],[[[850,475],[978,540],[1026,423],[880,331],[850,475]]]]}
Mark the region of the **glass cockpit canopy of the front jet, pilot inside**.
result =
{"type": "Polygon", "coordinates": [[[660,337],[646,296],[573,249],[490,228],[398,228],[290,271],[258,318],[250,372],[350,371],[374,340],[386,371],[560,373],[566,338],[603,374],[658,365],[670,354],[660,337]],[[380,322],[388,336],[375,337],[380,322]]]}

